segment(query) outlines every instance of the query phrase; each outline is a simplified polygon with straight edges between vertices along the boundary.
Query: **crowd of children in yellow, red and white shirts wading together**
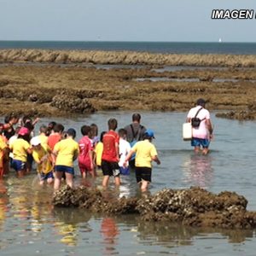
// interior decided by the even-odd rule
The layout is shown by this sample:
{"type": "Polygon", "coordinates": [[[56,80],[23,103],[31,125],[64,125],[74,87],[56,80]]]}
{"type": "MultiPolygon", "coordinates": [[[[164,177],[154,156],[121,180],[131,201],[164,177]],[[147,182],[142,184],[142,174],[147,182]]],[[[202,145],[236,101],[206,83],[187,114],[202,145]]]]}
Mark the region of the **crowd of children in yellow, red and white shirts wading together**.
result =
{"type": "Polygon", "coordinates": [[[143,141],[137,142],[132,148],[126,141],[127,131],[116,129],[116,119],[108,120],[108,131],[103,131],[97,137],[97,126],[83,125],[82,138],[75,141],[76,131],[73,128],[64,131],[64,126],[49,123],[41,125],[39,135],[34,136],[34,126],[38,119],[29,117],[19,119],[15,114],[0,124],[0,175],[9,172],[9,166],[15,170],[17,177],[23,177],[32,170],[32,161],[37,164],[39,183],[54,183],[54,189],[61,187],[61,180],[73,188],[74,160],[78,160],[81,177],[89,175],[96,177],[96,169],[101,168],[103,173],[102,186],[108,187],[109,178],[113,177],[116,186],[121,183],[120,175],[130,173],[129,160],[136,154],[135,172],[137,183],[142,191],[148,188],[151,182],[154,160],[160,164],[154,144],[154,132],[147,130],[143,141]],[[15,128],[16,125],[16,128],[15,128]]]}

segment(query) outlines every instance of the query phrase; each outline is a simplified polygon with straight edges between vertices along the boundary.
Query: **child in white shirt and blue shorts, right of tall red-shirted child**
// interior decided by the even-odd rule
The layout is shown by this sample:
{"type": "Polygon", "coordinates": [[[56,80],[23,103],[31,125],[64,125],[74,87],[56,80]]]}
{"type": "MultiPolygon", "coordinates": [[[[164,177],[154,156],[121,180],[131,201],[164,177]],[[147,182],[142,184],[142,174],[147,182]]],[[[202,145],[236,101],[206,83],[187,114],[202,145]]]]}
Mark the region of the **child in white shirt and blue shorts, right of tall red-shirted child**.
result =
{"type": "MultiPolygon", "coordinates": [[[[125,157],[131,151],[130,143],[128,143],[126,141],[126,135],[127,135],[127,131],[125,129],[119,129],[119,137],[120,137],[120,139],[119,139],[119,168],[120,168],[120,173],[123,175],[130,174],[129,166],[124,167],[125,157]]],[[[128,163],[127,163],[127,165],[128,165],[128,163]]]]}

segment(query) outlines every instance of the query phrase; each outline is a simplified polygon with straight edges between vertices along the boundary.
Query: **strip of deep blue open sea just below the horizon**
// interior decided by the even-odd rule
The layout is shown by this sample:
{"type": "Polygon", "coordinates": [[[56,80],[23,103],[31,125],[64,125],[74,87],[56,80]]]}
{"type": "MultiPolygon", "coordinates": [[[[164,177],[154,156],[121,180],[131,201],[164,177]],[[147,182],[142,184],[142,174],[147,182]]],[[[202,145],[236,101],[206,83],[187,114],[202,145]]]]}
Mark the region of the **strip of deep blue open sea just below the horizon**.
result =
{"type": "Polygon", "coordinates": [[[131,50],[169,54],[255,55],[256,43],[0,41],[0,49],[131,50]]]}

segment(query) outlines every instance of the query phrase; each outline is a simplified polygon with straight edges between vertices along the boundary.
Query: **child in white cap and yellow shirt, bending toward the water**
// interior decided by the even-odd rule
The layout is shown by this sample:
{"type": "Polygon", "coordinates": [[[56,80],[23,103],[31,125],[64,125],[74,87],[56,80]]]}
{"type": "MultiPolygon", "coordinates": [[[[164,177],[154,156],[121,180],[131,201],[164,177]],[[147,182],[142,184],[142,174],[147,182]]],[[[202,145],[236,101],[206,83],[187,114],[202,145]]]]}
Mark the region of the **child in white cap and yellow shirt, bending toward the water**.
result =
{"type": "Polygon", "coordinates": [[[44,181],[47,183],[53,183],[53,166],[50,158],[50,148],[47,144],[42,145],[39,137],[32,137],[32,156],[35,162],[38,164],[38,175],[40,178],[40,185],[44,185],[44,181]]]}

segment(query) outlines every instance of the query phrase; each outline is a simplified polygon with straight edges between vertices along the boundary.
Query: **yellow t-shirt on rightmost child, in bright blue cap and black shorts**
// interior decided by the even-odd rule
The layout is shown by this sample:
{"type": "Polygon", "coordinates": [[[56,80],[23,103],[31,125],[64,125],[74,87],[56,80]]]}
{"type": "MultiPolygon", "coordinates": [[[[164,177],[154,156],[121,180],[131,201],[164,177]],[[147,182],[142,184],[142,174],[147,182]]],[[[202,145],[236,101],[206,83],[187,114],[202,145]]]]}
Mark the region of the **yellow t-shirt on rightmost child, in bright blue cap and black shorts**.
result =
{"type": "Polygon", "coordinates": [[[152,157],[157,155],[157,151],[156,148],[154,147],[154,144],[150,143],[148,140],[143,140],[142,142],[137,142],[131,148],[131,150],[136,153],[135,166],[149,168],[152,167],[152,157]]]}

